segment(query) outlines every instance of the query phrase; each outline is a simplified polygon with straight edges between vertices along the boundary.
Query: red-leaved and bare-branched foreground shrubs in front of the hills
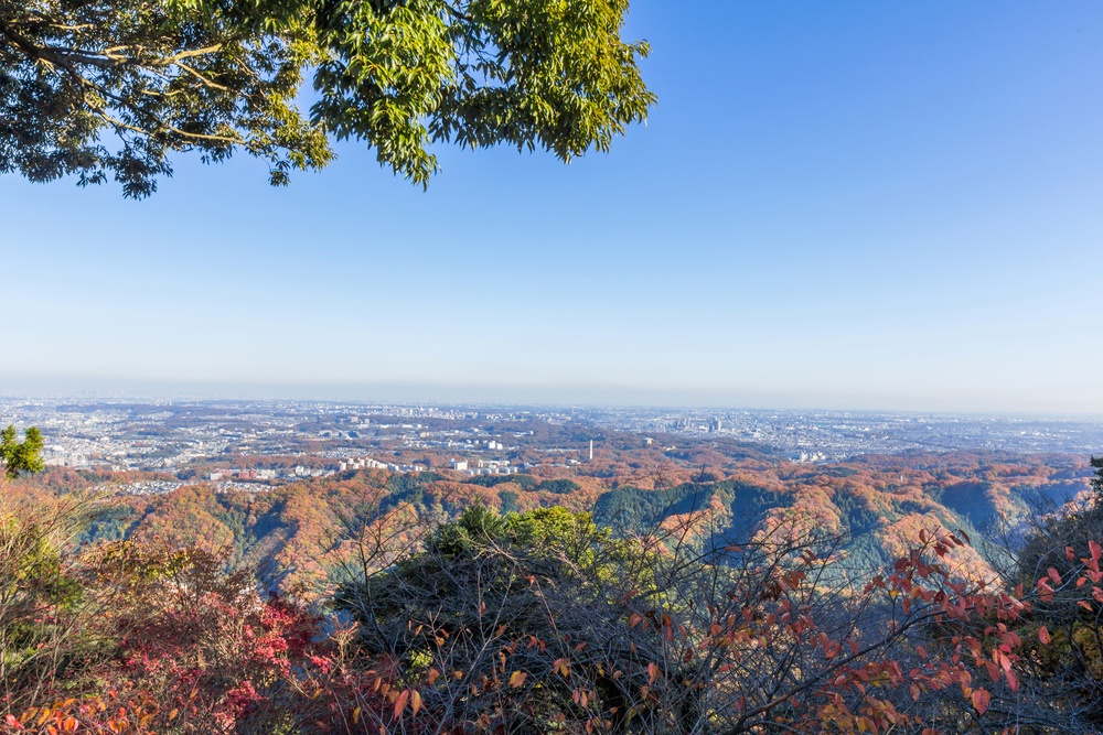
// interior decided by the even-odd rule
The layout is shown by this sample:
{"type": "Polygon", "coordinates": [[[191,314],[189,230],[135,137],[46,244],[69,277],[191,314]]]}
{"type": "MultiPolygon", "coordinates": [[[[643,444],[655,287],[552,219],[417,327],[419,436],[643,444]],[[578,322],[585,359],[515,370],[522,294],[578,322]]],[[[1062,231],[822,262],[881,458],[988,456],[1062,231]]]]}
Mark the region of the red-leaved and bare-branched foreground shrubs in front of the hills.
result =
{"type": "Polygon", "coordinates": [[[396,506],[300,598],[228,551],[75,544],[86,510],[0,519],[6,735],[1094,726],[1059,666],[1074,651],[1083,684],[1103,661],[1094,539],[1014,586],[964,574],[971,541],[940,525],[875,572],[795,512],[736,538],[719,506],[635,533],[482,506],[425,528],[396,506]]]}

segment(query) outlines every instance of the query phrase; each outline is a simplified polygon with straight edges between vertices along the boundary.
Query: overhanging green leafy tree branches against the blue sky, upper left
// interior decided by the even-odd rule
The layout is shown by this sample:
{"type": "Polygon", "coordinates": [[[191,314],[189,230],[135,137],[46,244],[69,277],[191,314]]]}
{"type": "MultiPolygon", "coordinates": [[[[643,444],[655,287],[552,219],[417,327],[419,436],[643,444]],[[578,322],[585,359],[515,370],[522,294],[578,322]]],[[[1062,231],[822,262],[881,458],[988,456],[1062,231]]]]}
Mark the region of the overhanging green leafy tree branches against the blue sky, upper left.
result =
{"type": "Polygon", "coordinates": [[[0,0],[0,173],[108,176],[245,151],[282,185],[352,138],[425,185],[435,142],[607,150],[654,102],[628,0],[0,0]],[[312,76],[314,101],[297,97],[312,76]]]}

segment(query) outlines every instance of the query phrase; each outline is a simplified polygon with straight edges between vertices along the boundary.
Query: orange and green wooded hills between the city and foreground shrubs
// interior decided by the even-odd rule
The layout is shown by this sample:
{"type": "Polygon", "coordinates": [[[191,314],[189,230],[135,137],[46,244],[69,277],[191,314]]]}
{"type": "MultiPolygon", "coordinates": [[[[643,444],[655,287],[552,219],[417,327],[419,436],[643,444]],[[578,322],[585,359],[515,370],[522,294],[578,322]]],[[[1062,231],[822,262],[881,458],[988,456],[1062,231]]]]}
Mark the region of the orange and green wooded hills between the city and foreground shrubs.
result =
{"type": "Polygon", "coordinates": [[[978,540],[979,551],[963,563],[977,577],[992,576],[985,544],[1021,537],[1037,510],[1083,494],[1090,476],[1082,457],[1060,455],[889,455],[834,465],[754,457],[726,464],[668,466],[651,475],[631,471],[627,477],[358,471],[265,491],[216,491],[197,483],[164,495],[118,496],[113,488],[132,483],[133,473],[51,468],[0,489],[9,497],[96,495],[104,506],[82,542],[197,543],[271,571],[280,585],[322,591],[341,581],[355,529],[372,522],[427,528],[473,505],[503,515],[552,507],[591,511],[597,523],[622,536],[683,527],[702,544],[786,523],[794,533],[844,539],[843,551],[864,568],[895,559],[921,528],[962,529],[978,540]]]}

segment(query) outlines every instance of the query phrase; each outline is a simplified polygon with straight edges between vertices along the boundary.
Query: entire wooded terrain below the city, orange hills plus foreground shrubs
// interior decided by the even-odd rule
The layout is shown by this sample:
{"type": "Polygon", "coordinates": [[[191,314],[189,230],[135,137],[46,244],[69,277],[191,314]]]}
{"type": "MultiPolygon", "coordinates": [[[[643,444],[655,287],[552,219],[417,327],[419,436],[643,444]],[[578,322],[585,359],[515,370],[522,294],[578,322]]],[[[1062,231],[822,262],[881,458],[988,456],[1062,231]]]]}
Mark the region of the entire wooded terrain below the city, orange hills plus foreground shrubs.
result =
{"type": "Polygon", "coordinates": [[[53,471],[2,486],[0,732],[1094,732],[1091,464],[160,496],[53,471]]]}

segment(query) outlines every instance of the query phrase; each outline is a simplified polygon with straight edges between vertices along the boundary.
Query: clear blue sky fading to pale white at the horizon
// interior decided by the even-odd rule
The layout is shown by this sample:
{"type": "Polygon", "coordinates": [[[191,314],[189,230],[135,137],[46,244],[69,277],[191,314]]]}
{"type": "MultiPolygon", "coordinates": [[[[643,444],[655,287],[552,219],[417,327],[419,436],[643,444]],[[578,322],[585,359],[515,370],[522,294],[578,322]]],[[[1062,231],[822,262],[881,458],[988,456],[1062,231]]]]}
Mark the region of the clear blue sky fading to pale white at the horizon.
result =
{"type": "Polygon", "coordinates": [[[0,394],[1103,412],[1103,3],[634,0],[608,155],[0,177],[0,394]]]}

